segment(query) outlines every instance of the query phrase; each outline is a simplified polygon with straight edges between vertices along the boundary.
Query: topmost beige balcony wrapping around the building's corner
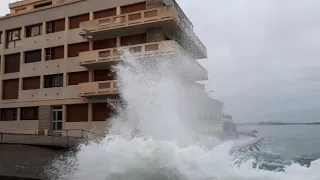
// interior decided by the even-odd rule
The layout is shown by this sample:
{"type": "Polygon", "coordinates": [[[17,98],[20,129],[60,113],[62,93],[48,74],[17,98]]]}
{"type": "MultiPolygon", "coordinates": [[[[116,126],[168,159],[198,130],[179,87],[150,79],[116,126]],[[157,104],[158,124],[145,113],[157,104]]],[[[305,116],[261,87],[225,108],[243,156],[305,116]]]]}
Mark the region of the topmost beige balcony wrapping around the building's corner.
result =
{"type": "Polygon", "coordinates": [[[167,37],[176,39],[193,57],[206,58],[206,47],[195,35],[192,27],[187,25],[187,20],[181,17],[174,6],[164,6],[82,22],[80,28],[83,31],[80,35],[95,40],[162,27],[167,37]]]}

